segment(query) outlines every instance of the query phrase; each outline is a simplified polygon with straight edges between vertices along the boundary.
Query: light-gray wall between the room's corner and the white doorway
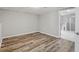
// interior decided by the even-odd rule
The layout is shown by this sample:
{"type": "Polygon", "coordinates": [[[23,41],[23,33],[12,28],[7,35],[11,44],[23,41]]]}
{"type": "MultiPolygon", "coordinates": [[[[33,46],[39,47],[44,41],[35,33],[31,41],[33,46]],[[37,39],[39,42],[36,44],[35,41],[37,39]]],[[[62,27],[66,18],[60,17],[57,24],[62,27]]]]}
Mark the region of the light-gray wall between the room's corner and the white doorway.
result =
{"type": "Polygon", "coordinates": [[[40,32],[59,36],[59,16],[57,10],[40,16],[40,32]]]}

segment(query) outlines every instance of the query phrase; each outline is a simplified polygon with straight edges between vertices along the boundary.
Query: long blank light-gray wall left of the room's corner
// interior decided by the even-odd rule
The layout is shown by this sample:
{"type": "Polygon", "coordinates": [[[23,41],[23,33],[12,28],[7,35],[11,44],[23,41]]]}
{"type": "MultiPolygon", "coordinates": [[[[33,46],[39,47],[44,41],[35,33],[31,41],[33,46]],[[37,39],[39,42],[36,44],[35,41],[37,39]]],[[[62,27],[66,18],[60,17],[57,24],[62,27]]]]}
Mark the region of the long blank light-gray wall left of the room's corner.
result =
{"type": "Polygon", "coordinates": [[[2,36],[13,36],[37,31],[37,16],[34,14],[0,11],[2,36]]]}

